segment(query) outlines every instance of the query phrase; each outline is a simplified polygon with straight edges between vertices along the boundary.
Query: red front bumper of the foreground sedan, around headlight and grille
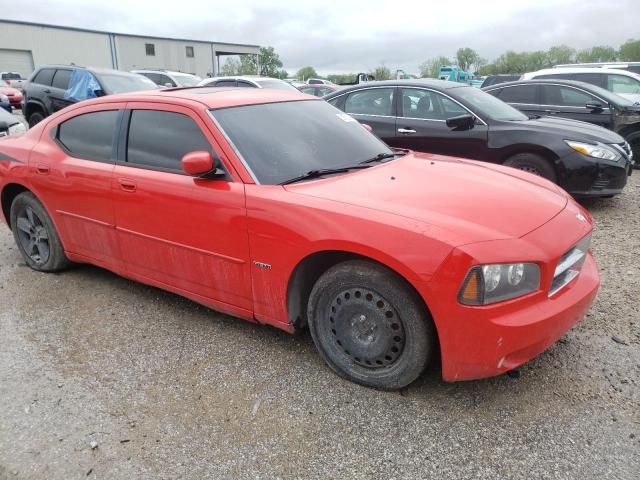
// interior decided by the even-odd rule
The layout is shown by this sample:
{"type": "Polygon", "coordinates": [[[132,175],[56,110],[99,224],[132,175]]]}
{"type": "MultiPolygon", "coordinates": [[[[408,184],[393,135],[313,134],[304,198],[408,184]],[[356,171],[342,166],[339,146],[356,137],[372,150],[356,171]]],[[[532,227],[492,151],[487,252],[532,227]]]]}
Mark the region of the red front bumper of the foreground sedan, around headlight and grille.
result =
{"type": "Polygon", "coordinates": [[[438,330],[444,380],[473,380],[512,370],[539,355],[584,316],[600,285],[591,253],[575,279],[552,297],[548,295],[558,260],[591,229],[577,218],[579,212],[571,205],[522,238],[454,250],[430,282],[432,295],[451,300],[429,303],[427,299],[438,330]],[[493,305],[458,303],[454,290],[464,278],[460,271],[466,274],[474,264],[517,261],[538,263],[538,291],[493,305]]]}

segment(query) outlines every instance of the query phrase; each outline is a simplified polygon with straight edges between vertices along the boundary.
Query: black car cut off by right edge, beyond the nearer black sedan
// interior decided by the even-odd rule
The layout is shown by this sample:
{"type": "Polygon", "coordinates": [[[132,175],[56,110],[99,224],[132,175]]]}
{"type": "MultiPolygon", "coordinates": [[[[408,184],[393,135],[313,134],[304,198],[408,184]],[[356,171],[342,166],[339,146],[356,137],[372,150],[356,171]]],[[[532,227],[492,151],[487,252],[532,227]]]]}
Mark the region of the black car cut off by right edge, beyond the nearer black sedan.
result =
{"type": "Polygon", "coordinates": [[[624,137],[640,159],[640,105],[590,83],[522,80],[483,88],[527,115],[572,118],[608,128],[624,137]]]}

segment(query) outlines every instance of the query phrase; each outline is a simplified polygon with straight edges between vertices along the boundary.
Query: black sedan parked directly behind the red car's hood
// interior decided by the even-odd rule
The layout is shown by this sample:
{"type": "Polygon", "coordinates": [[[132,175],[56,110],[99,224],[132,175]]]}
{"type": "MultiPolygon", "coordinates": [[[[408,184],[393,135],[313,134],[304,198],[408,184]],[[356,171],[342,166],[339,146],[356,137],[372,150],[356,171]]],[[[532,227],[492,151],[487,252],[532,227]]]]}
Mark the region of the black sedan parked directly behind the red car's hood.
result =
{"type": "Polygon", "coordinates": [[[501,163],[575,196],[611,196],[631,174],[618,134],[564,118],[530,119],[482,90],[440,80],[391,80],[323,97],[393,147],[501,163]]]}

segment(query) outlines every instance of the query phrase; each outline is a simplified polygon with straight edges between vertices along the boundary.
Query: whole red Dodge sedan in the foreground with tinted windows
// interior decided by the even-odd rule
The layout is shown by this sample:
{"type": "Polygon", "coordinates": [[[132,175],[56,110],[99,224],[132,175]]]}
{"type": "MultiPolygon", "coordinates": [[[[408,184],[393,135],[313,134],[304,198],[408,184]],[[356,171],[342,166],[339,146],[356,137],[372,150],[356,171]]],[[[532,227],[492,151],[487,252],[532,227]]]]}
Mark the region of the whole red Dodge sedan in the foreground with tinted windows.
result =
{"type": "Polygon", "coordinates": [[[507,167],[391,150],[326,102],[168,89],[65,108],[0,139],[25,261],[72,262],[294,332],[329,366],[400,388],[513,369],[599,285],[591,218],[507,167]],[[311,128],[310,128],[311,127],[311,128]]]}

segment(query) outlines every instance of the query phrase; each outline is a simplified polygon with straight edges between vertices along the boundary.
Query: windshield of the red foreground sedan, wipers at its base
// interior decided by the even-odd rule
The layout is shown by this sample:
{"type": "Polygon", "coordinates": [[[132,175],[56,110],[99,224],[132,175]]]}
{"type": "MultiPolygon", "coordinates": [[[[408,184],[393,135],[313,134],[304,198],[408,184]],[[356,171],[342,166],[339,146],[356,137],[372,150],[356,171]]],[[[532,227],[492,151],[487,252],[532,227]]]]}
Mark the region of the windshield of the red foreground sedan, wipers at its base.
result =
{"type": "Polygon", "coordinates": [[[223,108],[211,115],[261,184],[393,154],[357,120],[323,100],[223,108]]]}

